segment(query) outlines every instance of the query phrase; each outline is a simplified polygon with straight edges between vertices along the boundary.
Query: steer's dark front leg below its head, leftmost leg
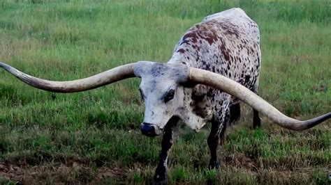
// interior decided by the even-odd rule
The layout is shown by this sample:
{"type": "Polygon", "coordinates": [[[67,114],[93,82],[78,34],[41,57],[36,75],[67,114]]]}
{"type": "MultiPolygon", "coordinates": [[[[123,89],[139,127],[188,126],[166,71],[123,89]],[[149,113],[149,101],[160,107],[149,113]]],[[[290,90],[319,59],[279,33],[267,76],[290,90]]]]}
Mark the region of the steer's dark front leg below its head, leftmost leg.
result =
{"type": "Polygon", "coordinates": [[[173,143],[173,128],[176,126],[178,120],[179,118],[172,117],[164,127],[160,161],[158,166],[156,167],[156,172],[154,175],[154,184],[166,184],[170,147],[173,143]]]}

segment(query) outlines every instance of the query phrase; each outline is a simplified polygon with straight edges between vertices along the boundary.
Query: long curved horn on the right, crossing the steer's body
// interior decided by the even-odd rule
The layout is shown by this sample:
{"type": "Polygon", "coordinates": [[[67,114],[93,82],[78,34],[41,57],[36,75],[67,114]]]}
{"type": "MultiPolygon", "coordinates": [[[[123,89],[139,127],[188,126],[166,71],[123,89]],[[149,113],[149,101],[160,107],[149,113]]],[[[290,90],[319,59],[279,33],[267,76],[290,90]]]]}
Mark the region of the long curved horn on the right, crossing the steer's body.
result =
{"type": "Polygon", "coordinates": [[[331,118],[331,113],[326,113],[325,115],[305,121],[289,118],[278,111],[277,108],[274,108],[274,106],[253,93],[251,90],[242,86],[240,83],[214,72],[191,67],[189,79],[196,83],[201,83],[206,86],[211,86],[212,88],[223,90],[224,92],[239,98],[243,102],[249,104],[249,106],[255,108],[256,111],[263,113],[263,115],[266,115],[267,118],[286,129],[297,131],[309,129],[314,127],[316,124],[331,118]]]}

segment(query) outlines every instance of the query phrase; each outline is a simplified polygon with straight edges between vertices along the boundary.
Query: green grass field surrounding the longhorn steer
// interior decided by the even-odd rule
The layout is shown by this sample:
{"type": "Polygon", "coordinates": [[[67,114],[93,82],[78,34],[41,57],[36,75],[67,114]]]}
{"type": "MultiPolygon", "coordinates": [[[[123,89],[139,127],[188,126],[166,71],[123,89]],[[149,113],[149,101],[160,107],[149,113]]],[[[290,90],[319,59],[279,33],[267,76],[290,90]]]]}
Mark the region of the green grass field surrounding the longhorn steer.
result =
{"type": "MultiPolygon", "coordinates": [[[[0,2],[0,61],[36,77],[87,77],[135,61],[166,62],[203,17],[241,7],[261,33],[260,96],[297,119],[331,111],[330,1],[0,2]]],[[[161,137],[140,134],[139,79],[56,94],[0,70],[0,184],[150,183],[161,137]]],[[[228,129],[221,170],[207,170],[209,125],[181,127],[170,184],[328,184],[330,120],[307,131],[263,119],[251,108],[228,129]]]]}

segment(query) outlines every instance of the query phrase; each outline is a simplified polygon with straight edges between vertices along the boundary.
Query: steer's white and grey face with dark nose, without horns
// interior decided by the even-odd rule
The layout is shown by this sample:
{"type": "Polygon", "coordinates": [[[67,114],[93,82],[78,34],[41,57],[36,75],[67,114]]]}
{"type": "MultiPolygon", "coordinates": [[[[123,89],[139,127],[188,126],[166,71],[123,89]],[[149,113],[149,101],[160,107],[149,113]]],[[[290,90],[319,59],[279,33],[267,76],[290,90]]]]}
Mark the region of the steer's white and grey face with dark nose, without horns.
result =
{"type": "Polygon", "coordinates": [[[135,65],[134,73],[141,78],[139,90],[145,101],[141,132],[157,136],[184,105],[183,84],[188,80],[189,69],[180,64],[140,62],[135,65]]]}

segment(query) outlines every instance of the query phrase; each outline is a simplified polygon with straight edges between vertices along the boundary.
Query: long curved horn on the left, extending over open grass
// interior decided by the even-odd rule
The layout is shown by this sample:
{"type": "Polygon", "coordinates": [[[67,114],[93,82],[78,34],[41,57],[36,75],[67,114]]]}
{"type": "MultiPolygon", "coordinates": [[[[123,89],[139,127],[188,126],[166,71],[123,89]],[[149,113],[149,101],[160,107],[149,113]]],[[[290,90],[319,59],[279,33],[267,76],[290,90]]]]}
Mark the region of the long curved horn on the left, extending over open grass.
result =
{"type": "Polygon", "coordinates": [[[77,79],[73,81],[48,81],[45,79],[39,79],[32,77],[29,74],[25,74],[16,70],[14,67],[6,63],[0,62],[0,67],[3,67],[6,71],[13,74],[15,77],[34,86],[35,88],[40,88],[47,91],[52,91],[56,93],[75,93],[84,90],[90,90],[93,88],[98,88],[100,86],[105,86],[109,83],[115,81],[120,81],[122,79],[127,79],[135,77],[133,73],[133,65],[135,63],[129,63],[126,65],[121,65],[119,67],[112,68],[111,70],[101,72],[91,77],[84,79],[77,79]]]}

